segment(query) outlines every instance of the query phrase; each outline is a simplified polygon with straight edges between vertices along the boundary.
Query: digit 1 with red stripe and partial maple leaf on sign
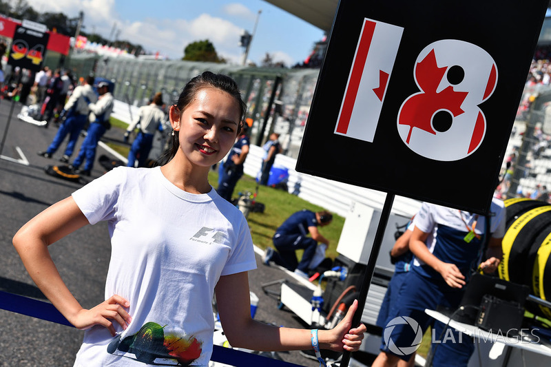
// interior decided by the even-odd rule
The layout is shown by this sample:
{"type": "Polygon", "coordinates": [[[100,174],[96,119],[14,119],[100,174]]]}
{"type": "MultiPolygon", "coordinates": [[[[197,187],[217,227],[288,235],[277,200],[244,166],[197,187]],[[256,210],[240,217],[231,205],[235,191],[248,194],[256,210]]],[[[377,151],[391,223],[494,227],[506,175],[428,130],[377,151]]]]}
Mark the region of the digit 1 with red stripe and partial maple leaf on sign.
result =
{"type": "Polygon", "coordinates": [[[373,142],[403,31],[364,19],[335,134],[373,142]]]}

